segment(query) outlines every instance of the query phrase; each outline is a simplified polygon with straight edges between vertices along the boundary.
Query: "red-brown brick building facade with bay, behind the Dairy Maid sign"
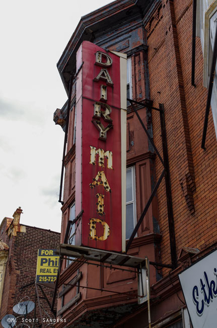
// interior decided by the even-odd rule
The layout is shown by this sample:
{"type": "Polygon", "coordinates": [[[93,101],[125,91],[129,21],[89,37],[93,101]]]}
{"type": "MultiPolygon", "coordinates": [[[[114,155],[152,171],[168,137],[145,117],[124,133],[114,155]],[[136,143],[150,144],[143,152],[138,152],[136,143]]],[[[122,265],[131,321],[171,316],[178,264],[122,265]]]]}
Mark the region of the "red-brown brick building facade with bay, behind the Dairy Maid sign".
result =
{"type": "MultiPolygon", "coordinates": [[[[217,144],[210,112],[206,150],[200,146],[207,89],[203,87],[203,54],[199,38],[196,38],[196,87],[191,85],[192,7],[192,0],[117,0],[81,19],[57,65],[63,83],[68,88],[68,74],[72,72],[72,67],[76,73],[75,56],[84,39],[100,45],[105,51],[125,52],[131,58],[132,99],[153,101],[153,106],[157,108],[163,104],[178,266],[173,270],[150,267],[151,320],[152,326],[156,328],[182,327],[181,309],[186,306],[178,273],[215,249],[217,243],[217,144]],[[186,247],[198,249],[199,253],[185,253],[186,247]]],[[[72,102],[75,96],[74,89],[72,102]]],[[[153,133],[154,143],[162,154],[159,112],[148,110],[142,105],[136,108],[151,135],[153,133]]],[[[63,107],[64,118],[65,113],[63,107]]],[[[62,242],[70,206],[76,201],[74,120],[75,106],[70,112],[65,157],[62,242]]],[[[163,166],[131,106],[127,107],[126,158],[127,167],[135,168],[138,221],[163,166]]],[[[171,264],[167,200],[163,179],[128,254],[148,256],[150,261],[171,264]]],[[[81,298],[76,303],[63,308],[62,315],[68,325],[79,328],[88,325],[121,328],[149,326],[147,304],[136,304],[136,275],[107,268],[97,269],[77,262],[67,267],[66,261],[63,261],[59,292],[63,291],[62,284],[68,284],[78,275],[78,269],[82,272],[80,284],[84,288],[71,288],[65,293],[64,299],[58,298],[57,309],[61,310],[81,292],[81,298]],[[85,286],[101,291],[89,290],[85,286]],[[117,295],[112,291],[129,294],[117,295]],[[117,307],[122,315],[117,315],[117,307]],[[111,313],[111,317],[108,313],[111,313]]]]}

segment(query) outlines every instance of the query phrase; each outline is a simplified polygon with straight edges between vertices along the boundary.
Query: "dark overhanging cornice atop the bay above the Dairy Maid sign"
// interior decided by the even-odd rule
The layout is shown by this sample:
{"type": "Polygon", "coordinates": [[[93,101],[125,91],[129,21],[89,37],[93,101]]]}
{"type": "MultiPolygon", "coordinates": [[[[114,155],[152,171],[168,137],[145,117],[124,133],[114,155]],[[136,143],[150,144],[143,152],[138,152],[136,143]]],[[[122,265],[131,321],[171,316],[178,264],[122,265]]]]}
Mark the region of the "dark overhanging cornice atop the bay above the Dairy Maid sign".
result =
{"type": "Polygon", "coordinates": [[[155,2],[156,0],[116,0],[81,18],[57,63],[67,94],[70,74],[76,73],[76,52],[81,43],[85,40],[93,41],[95,33],[99,34],[98,31],[104,30],[105,26],[114,27],[118,24],[120,28],[120,23],[124,24],[129,15],[131,20],[139,17],[141,22],[145,13],[155,2]]]}

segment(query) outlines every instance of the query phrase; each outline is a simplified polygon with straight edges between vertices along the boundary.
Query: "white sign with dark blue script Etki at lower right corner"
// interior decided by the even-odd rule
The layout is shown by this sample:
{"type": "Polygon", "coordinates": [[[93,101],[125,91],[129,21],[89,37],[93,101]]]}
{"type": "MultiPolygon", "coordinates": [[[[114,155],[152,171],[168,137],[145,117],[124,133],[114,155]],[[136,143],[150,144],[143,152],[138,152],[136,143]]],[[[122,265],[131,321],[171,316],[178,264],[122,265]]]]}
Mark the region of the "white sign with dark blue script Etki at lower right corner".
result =
{"type": "Polygon", "coordinates": [[[217,325],[217,250],[181,272],[179,280],[193,328],[217,325]]]}

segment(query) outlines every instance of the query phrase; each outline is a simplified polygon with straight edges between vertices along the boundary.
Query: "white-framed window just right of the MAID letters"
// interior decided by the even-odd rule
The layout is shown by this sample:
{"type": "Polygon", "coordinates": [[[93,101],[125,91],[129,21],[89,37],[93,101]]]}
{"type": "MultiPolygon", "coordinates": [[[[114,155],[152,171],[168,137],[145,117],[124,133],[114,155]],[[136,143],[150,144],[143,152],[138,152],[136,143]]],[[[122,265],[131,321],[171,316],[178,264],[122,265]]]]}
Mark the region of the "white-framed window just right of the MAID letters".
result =
{"type": "Polygon", "coordinates": [[[126,170],[126,239],[131,236],[136,222],[135,168],[126,170]]]}

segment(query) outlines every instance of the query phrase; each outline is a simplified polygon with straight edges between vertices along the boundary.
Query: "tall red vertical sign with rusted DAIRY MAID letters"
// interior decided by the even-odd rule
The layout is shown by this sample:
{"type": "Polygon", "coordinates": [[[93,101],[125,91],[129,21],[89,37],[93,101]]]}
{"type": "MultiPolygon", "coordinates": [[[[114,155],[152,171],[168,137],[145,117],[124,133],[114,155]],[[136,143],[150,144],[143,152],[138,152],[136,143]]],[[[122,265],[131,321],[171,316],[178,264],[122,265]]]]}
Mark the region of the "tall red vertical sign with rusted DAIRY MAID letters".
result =
{"type": "Polygon", "coordinates": [[[76,244],[125,251],[126,55],[84,41],[77,52],[76,244]],[[83,66],[81,68],[81,65],[83,66]]]}

